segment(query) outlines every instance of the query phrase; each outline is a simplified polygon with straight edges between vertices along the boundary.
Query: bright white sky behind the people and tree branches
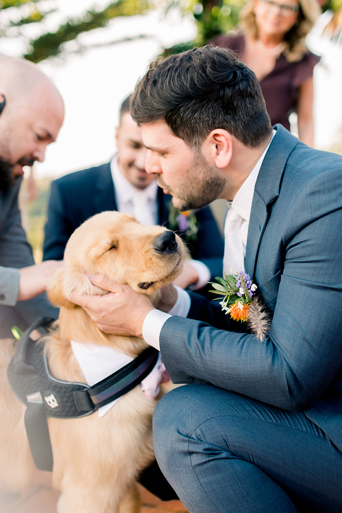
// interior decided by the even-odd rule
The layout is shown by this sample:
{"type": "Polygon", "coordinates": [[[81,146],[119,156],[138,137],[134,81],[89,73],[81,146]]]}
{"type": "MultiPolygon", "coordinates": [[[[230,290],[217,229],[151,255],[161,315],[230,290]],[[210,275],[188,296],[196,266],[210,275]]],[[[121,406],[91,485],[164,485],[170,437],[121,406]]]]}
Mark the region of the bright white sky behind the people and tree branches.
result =
{"type": "MultiPolygon", "coordinates": [[[[67,16],[94,5],[91,0],[55,2],[59,11],[50,16],[49,30],[56,29],[67,16]]],[[[103,5],[106,3],[102,0],[103,5]]],[[[33,24],[29,30],[29,35],[36,36],[37,30],[42,29],[33,24]]],[[[323,54],[314,73],[315,146],[329,149],[338,137],[342,138],[342,46],[333,45],[320,32],[316,30],[309,38],[312,51],[323,54]]],[[[55,178],[108,162],[115,152],[114,134],[121,102],[163,47],[192,40],[196,28],[191,14],[181,17],[173,10],[165,17],[160,11],[152,11],[144,16],[113,19],[105,28],[81,34],[77,41],[82,45],[102,44],[140,34],[148,37],[84,53],[72,53],[77,44],[70,42],[64,57],[39,64],[61,92],[66,117],[57,141],[47,148],[44,163],[34,165],[37,178],[55,178]]],[[[3,38],[0,51],[19,56],[25,51],[23,44],[20,38],[3,38]]]]}

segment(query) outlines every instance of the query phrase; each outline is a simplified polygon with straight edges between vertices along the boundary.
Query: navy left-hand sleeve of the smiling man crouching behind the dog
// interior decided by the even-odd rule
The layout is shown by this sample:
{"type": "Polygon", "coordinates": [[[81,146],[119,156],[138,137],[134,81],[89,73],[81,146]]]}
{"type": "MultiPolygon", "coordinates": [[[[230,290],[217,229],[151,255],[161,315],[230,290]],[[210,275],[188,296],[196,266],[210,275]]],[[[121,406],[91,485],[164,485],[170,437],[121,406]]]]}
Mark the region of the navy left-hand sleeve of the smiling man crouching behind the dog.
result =
{"type": "Polygon", "coordinates": [[[58,181],[51,183],[43,260],[63,260],[65,246],[73,228],[65,214],[63,187],[58,181]]]}

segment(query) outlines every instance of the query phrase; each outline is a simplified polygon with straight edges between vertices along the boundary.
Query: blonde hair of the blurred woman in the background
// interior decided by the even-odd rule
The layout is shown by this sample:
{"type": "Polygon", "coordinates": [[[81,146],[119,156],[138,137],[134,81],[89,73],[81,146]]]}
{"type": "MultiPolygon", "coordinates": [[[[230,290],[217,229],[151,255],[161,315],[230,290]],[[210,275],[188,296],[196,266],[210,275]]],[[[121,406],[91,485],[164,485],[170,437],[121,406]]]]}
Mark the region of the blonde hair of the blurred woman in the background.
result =
{"type": "MultiPolygon", "coordinates": [[[[308,51],[305,37],[314,26],[320,14],[320,7],[316,0],[298,0],[298,24],[294,25],[284,37],[286,44],[283,53],[288,62],[297,62],[308,51]]],[[[247,5],[240,12],[240,27],[254,40],[258,38],[258,28],[255,21],[255,0],[248,0],[247,5]]]]}

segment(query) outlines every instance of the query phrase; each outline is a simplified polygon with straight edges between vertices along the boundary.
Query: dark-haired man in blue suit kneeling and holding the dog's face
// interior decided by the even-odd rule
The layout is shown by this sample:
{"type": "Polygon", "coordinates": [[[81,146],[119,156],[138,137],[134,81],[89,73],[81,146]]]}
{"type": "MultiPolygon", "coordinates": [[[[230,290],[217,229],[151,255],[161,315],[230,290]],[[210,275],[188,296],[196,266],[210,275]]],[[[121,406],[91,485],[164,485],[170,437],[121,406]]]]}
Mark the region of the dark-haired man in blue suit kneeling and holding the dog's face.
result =
{"type": "Polygon", "coordinates": [[[111,293],[68,299],[104,331],[160,347],[171,379],[187,383],[158,403],[153,427],[160,468],[189,511],[339,513],[342,158],[272,129],[254,73],[222,48],[152,63],[131,113],[146,169],[174,205],[228,201],[224,270],[250,274],[268,334],[260,342],[192,292],[175,302],[165,289],[159,311],[93,277],[111,293]]]}

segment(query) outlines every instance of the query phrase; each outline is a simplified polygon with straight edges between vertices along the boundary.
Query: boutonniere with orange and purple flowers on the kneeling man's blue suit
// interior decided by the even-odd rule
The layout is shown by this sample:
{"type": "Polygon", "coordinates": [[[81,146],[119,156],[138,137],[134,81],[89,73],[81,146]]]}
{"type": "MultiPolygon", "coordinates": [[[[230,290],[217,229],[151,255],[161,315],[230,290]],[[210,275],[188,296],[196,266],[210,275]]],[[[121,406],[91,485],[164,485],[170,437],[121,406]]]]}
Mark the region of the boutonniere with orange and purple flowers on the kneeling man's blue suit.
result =
{"type": "Polygon", "coordinates": [[[226,315],[229,313],[235,321],[247,322],[248,327],[262,342],[267,336],[270,318],[263,303],[255,295],[257,286],[246,272],[235,272],[234,267],[229,272],[230,274],[224,272],[223,278],[215,278],[218,283],[210,282],[215,289],[210,292],[223,296],[219,303],[222,311],[226,315]]]}

